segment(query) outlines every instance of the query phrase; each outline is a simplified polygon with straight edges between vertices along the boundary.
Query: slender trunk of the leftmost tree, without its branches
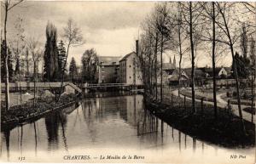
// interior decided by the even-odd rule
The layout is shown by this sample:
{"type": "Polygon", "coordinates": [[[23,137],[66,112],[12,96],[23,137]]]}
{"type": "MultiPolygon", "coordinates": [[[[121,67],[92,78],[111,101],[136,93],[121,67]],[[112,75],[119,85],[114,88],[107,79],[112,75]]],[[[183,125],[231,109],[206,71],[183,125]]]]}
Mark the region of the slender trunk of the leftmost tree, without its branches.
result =
{"type": "Polygon", "coordinates": [[[9,110],[9,68],[8,59],[9,54],[7,51],[7,16],[8,16],[8,5],[5,4],[5,17],[4,17],[4,53],[5,53],[5,110],[9,110]]]}

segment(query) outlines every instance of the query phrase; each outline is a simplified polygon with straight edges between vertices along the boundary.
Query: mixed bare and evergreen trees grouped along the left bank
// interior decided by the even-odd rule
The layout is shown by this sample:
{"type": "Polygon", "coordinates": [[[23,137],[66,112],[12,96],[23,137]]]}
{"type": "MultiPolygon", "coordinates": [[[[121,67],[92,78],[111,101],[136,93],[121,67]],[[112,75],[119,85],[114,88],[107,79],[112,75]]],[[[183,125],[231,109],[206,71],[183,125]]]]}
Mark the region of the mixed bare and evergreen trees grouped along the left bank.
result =
{"type": "MultiPolygon", "coordinates": [[[[7,22],[9,11],[22,3],[23,0],[11,1],[5,0],[3,2],[3,38],[1,36],[1,81],[5,82],[5,110],[9,110],[9,80],[21,81],[21,74],[26,77],[30,76],[30,68],[32,65],[32,80],[34,82],[34,98],[36,94],[36,82],[38,79],[39,61],[43,60],[42,65],[43,79],[45,82],[61,81],[61,90],[63,87],[65,68],[67,67],[67,57],[69,50],[73,46],[79,46],[84,43],[82,33],[76,23],[69,19],[67,25],[63,28],[63,35],[57,45],[57,29],[55,25],[48,23],[46,26],[46,43],[42,46],[38,37],[25,37],[24,28],[22,26],[23,20],[16,21],[15,39],[7,38],[7,22]],[[65,43],[64,43],[65,42],[65,43]],[[8,45],[9,43],[9,45],[8,45]],[[14,66],[15,65],[15,66],[14,66]],[[15,70],[13,68],[15,67],[15,70]],[[14,76],[15,75],[15,76],[14,76]]],[[[27,79],[26,79],[27,80],[27,79]]],[[[61,97],[61,92],[57,96],[56,101],[61,97]]],[[[21,92],[20,92],[21,100],[21,92]]],[[[35,99],[34,99],[35,105],[35,99]]]]}

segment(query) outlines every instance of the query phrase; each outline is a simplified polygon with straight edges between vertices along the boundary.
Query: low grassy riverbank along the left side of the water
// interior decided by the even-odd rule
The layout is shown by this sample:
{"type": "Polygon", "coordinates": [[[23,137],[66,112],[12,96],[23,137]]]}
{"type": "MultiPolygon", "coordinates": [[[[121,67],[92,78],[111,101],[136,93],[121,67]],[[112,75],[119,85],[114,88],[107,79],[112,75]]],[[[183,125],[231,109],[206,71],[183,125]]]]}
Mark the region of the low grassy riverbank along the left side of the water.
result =
{"type": "MultiPolygon", "coordinates": [[[[9,110],[1,110],[1,131],[6,128],[12,128],[16,125],[37,120],[41,116],[53,110],[60,110],[73,105],[79,97],[73,94],[61,96],[58,102],[54,99],[38,99],[35,106],[32,102],[26,102],[22,105],[12,106],[9,110]]],[[[3,108],[3,107],[2,107],[3,108]]]]}

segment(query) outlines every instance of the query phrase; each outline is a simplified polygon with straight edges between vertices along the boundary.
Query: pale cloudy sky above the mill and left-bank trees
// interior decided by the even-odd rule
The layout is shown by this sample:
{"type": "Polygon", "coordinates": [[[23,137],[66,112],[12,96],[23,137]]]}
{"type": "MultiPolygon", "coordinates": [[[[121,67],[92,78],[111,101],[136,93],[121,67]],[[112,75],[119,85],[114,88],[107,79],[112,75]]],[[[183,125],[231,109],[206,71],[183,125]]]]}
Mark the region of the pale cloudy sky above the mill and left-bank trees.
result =
{"type": "Polygon", "coordinates": [[[79,25],[85,44],[70,49],[69,60],[80,64],[85,49],[95,48],[102,56],[124,56],[135,50],[140,23],[154,2],[24,2],[9,14],[9,39],[17,17],[24,19],[26,36],[36,36],[44,46],[45,27],[53,23],[59,39],[68,18],[79,25]]]}

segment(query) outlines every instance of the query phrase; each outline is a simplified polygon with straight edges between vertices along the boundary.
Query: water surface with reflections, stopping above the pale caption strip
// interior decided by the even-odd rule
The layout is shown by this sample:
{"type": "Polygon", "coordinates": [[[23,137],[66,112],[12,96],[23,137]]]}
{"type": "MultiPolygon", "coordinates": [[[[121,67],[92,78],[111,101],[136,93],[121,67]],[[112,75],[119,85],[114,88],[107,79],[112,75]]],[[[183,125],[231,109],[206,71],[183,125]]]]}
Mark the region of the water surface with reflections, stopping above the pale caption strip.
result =
{"type": "MultiPolygon", "coordinates": [[[[134,148],[175,150],[195,156],[218,146],[205,144],[166,124],[144,109],[142,95],[84,99],[36,122],[2,132],[1,156],[12,152],[69,152],[74,148],[134,148]],[[2,144],[5,143],[5,144],[2,144]],[[198,147],[198,148],[197,148],[198,147]],[[196,150],[200,149],[200,150],[196,150]]],[[[31,156],[31,154],[30,154],[31,156]]]]}

